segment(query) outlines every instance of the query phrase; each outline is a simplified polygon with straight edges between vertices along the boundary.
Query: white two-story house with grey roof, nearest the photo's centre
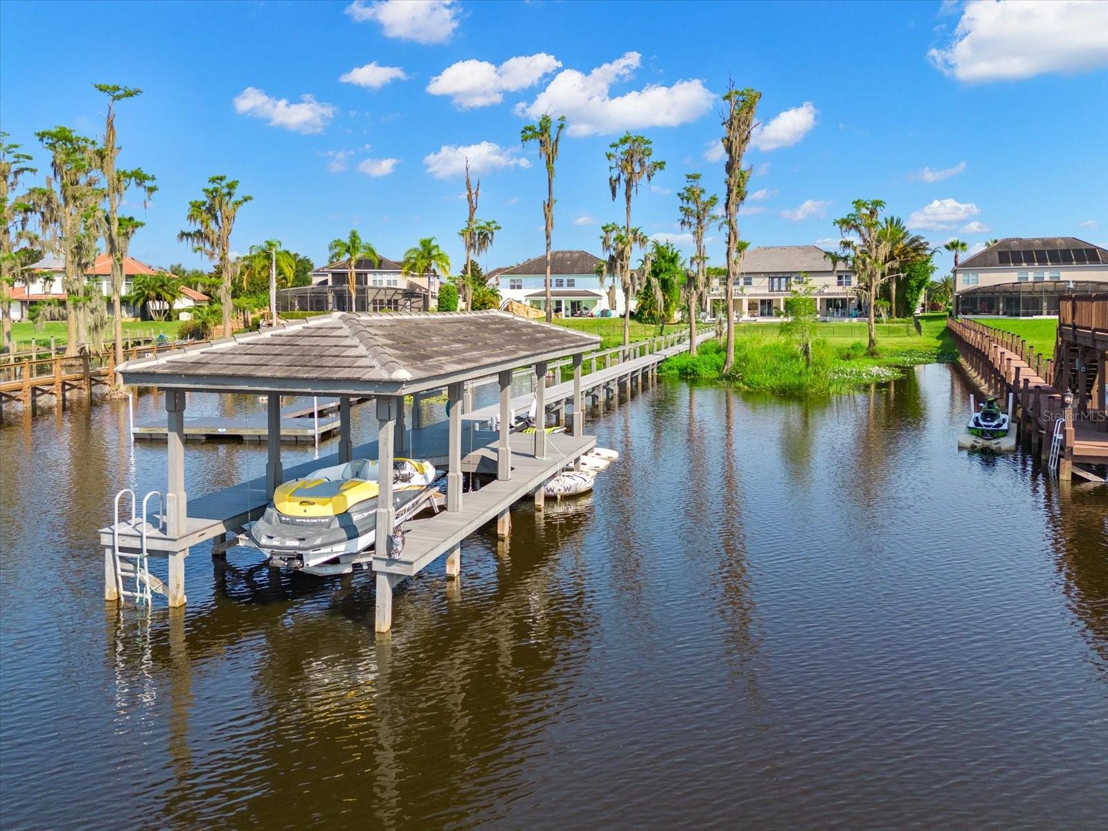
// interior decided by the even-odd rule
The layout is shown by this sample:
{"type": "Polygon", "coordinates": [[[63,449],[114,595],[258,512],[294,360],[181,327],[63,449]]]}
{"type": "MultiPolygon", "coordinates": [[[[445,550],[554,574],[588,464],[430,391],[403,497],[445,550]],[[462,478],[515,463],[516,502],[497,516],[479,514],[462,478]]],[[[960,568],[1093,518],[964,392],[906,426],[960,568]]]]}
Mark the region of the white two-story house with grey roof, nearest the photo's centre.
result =
{"type": "MultiPolygon", "coordinates": [[[[601,285],[596,274],[604,260],[583,250],[551,252],[551,304],[563,317],[604,317],[624,314],[623,291],[609,280],[601,285]]],[[[536,309],[546,308],[546,255],[491,273],[502,300],[519,300],[536,309]]],[[[632,309],[635,300],[632,299],[632,309]]]]}

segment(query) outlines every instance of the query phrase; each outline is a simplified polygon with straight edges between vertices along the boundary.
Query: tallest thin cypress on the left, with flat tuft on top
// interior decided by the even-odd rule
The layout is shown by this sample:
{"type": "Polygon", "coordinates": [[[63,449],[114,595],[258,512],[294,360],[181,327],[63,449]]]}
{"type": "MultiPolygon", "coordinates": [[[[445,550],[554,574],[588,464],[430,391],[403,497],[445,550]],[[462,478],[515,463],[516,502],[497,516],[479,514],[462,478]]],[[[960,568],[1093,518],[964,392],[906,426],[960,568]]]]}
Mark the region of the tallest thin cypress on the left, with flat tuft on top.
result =
{"type": "MultiPolygon", "coordinates": [[[[112,320],[115,339],[115,366],[119,366],[123,362],[122,294],[125,280],[123,259],[126,256],[127,244],[134,233],[143,225],[133,217],[126,217],[130,222],[124,222],[125,218],[120,216],[120,203],[123,202],[123,195],[127,188],[137,187],[142,192],[143,207],[145,207],[154,192],[157,191],[157,185],[154,184],[154,177],[141,168],[121,171],[115,167],[115,160],[120,154],[120,147],[115,143],[115,102],[141,95],[142,90],[116,84],[93,84],[93,86],[107,95],[104,143],[96,152],[96,166],[104,177],[104,189],[107,196],[107,211],[103,216],[103,237],[107,246],[107,254],[112,258],[112,320]]],[[[120,390],[113,389],[110,394],[119,396],[120,393],[120,390]]]]}

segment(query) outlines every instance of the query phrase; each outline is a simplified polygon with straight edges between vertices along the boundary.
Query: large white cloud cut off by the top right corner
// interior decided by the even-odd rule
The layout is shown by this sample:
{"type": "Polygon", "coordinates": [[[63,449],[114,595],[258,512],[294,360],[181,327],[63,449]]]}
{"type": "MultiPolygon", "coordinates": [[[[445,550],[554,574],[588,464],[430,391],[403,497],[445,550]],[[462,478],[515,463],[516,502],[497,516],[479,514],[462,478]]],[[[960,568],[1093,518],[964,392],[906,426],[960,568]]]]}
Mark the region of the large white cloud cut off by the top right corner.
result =
{"type": "Polygon", "coordinates": [[[1101,0],[973,0],[951,43],[927,58],[967,82],[1108,66],[1108,7],[1101,0]]]}

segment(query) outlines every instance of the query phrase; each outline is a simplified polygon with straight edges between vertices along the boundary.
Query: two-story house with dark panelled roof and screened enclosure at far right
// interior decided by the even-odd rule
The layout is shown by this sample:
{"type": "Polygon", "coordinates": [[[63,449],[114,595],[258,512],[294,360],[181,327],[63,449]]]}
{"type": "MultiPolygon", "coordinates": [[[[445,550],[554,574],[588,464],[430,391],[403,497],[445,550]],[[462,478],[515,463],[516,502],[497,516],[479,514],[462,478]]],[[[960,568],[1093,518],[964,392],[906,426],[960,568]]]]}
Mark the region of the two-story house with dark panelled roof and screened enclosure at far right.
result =
{"type": "Polygon", "coordinates": [[[1007,237],[954,269],[961,315],[1053,316],[1075,291],[1108,291],[1108,250],[1076,237],[1007,237]]]}

